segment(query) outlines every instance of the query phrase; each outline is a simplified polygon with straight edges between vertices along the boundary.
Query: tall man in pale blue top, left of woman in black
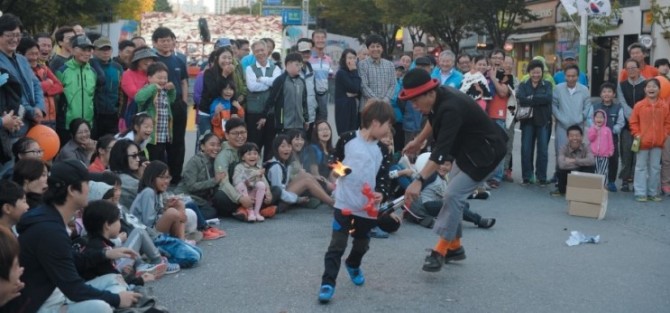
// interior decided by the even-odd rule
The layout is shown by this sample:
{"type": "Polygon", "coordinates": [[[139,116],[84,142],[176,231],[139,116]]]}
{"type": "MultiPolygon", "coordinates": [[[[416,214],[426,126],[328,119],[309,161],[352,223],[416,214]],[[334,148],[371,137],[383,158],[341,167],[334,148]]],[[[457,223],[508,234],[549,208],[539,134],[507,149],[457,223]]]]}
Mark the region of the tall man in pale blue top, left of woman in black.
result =
{"type": "Polygon", "coordinates": [[[333,75],[333,59],[326,54],[325,30],[317,29],[312,33],[314,42],[314,53],[309,58],[309,63],[314,69],[314,84],[316,90],[316,102],[319,107],[316,110],[317,120],[328,120],[328,78],[333,75]]]}

